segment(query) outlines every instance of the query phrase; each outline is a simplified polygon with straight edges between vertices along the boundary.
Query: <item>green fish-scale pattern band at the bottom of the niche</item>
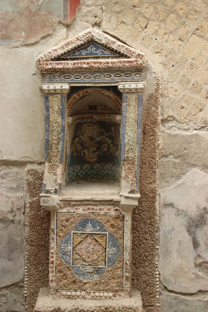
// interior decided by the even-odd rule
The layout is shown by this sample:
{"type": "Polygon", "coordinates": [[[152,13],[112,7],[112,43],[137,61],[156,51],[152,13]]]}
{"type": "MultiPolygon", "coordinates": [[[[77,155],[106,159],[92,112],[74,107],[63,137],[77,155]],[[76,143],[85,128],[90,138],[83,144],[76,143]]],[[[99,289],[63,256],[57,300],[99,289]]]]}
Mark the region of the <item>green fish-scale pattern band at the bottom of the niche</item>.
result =
{"type": "Polygon", "coordinates": [[[109,163],[85,163],[83,166],[76,164],[70,166],[68,183],[78,180],[112,180],[119,183],[119,166],[109,163]]]}

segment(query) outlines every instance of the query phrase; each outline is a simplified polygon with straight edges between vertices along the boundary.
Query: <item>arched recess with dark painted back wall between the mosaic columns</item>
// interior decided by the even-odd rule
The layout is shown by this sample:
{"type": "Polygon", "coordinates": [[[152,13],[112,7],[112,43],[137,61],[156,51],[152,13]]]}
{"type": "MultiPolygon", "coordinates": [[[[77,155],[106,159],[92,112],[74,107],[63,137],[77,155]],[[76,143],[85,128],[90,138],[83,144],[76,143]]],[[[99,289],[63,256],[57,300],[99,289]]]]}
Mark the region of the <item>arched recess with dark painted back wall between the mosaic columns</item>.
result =
{"type": "Polygon", "coordinates": [[[77,181],[120,183],[121,120],[118,91],[82,87],[71,95],[67,102],[66,188],[77,181]]]}

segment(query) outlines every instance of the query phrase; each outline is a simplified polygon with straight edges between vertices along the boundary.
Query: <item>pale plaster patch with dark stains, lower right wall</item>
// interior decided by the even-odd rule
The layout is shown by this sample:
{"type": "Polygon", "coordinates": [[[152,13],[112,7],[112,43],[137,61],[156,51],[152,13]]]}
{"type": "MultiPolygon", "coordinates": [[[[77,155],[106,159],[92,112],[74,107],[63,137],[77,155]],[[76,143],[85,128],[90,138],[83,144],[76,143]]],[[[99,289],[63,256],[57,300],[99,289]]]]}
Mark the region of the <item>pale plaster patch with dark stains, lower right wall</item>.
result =
{"type": "Polygon", "coordinates": [[[161,281],[169,290],[208,290],[208,175],[191,170],[160,192],[161,281]]]}

